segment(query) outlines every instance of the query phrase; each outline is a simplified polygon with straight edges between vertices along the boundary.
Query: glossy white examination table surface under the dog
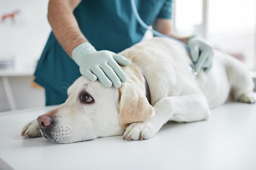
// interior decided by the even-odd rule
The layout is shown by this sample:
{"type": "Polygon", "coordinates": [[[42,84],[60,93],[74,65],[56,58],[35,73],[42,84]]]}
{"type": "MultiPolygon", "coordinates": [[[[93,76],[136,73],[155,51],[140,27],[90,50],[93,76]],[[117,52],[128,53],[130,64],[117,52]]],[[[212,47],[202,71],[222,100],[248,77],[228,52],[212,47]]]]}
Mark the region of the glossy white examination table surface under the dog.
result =
{"type": "Polygon", "coordinates": [[[256,169],[255,104],[225,104],[208,121],[167,123],[143,141],[114,136],[58,144],[20,136],[28,121],[52,108],[0,113],[0,169],[256,169]]]}

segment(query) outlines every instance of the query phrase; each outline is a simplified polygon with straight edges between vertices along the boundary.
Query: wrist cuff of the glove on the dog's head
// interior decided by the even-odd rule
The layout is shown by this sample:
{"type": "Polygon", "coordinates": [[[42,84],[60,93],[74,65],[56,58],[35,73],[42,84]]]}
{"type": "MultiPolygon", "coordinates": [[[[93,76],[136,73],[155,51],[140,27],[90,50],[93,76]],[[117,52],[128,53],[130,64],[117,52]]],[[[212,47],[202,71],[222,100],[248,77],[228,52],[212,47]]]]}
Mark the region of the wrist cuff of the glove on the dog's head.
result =
{"type": "Polygon", "coordinates": [[[76,62],[79,66],[79,61],[86,53],[89,51],[96,51],[94,46],[91,45],[90,42],[83,42],[82,44],[78,45],[72,52],[72,59],[76,62]]]}

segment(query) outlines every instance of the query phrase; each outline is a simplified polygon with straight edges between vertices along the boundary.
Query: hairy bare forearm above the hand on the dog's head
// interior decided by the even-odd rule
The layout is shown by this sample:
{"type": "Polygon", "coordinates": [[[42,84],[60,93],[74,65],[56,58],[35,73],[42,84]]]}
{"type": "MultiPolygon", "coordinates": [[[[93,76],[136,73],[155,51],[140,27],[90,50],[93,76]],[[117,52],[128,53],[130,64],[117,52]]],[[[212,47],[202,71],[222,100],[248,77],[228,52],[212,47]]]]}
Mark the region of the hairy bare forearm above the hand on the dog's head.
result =
{"type": "Polygon", "coordinates": [[[66,53],[71,57],[76,46],[87,42],[73,15],[73,10],[81,0],[50,0],[48,5],[48,21],[52,32],[66,53]]]}

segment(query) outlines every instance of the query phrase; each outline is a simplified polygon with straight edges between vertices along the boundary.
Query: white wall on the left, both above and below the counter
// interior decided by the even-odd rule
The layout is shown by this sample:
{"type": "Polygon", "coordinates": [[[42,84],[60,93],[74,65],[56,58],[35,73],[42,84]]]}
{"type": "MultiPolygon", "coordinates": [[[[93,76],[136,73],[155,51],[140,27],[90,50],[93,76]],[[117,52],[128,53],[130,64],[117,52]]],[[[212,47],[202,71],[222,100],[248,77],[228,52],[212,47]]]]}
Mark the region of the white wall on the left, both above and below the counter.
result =
{"type": "MultiPolygon", "coordinates": [[[[0,21],[0,55],[13,54],[16,68],[35,68],[51,31],[47,6],[48,0],[0,0],[0,17],[20,11],[14,21],[0,21]]],[[[18,109],[44,106],[44,90],[31,86],[31,76],[9,80],[18,109]]],[[[0,111],[7,110],[10,106],[0,77],[0,111]]]]}

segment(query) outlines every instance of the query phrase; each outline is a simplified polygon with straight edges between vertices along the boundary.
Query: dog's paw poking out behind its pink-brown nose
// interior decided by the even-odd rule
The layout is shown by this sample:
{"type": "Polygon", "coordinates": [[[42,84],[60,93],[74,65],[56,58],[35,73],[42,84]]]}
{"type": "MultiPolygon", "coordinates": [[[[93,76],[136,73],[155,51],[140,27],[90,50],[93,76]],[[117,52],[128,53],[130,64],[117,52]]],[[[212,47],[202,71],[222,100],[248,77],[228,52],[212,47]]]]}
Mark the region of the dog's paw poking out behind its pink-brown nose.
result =
{"type": "Polygon", "coordinates": [[[22,132],[21,132],[21,136],[31,137],[31,138],[42,136],[42,134],[39,130],[39,124],[37,122],[37,119],[28,122],[23,127],[22,132]]]}

